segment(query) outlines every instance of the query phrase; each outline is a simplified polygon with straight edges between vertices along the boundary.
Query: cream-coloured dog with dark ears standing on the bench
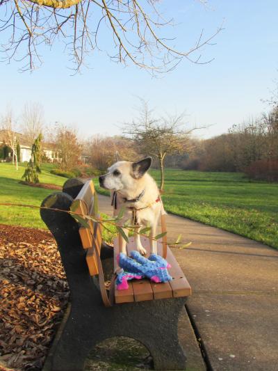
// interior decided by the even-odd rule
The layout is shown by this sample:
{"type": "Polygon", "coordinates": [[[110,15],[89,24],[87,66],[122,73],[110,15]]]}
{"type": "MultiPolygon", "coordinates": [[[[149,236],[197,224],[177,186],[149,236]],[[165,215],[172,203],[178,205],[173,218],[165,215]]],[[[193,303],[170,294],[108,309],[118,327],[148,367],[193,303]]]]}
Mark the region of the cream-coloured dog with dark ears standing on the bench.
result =
{"type": "MultiPolygon", "coordinates": [[[[151,253],[156,254],[156,228],[161,212],[164,213],[163,204],[159,195],[158,187],[154,179],[147,173],[152,165],[152,157],[146,157],[138,162],[117,161],[108,173],[99,177],[99,185],[104,189],[111,190],[114,216],[117,216],[124,207],[124,215],[119,223],[124,233],[128,230],[124,224],[131,220],[136,226],[136,248],[145,255],[147,251],[142,246],[138,232],[142,226],[149,227],[151,253]]],[[[126,241],[120,235],[120,252],[126,254],[126,241]]]]}

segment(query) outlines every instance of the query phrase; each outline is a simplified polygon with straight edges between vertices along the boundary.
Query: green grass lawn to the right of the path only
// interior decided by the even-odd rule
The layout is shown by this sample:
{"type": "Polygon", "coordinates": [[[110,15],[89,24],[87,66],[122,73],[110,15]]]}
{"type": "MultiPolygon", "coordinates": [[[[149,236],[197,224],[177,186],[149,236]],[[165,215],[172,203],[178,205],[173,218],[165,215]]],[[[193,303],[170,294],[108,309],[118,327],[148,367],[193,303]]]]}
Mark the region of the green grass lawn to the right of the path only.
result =
{"type": "MultiPolygon", "coordinates": [[[[159,184],[159,171],[151,174],[159,184]]],[[[250,182],[241,173],[166,169],[163,202],[168,212],[278,248],[277,183],[250,182]]]]}

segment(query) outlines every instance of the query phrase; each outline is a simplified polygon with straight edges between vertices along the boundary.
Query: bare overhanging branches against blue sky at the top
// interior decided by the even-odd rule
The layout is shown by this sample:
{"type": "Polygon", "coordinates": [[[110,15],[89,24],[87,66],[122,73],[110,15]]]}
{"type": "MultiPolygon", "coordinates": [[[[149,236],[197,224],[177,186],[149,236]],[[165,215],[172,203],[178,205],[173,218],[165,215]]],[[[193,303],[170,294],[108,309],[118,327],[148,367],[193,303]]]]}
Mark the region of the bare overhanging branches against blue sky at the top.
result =
{"type": "MultiPolygon", "coordinates": [[[[182,59],[202,61],[204,45],[221,31],[204,36],[186,51],[174,48],[173,38],[165,38],[161,29],[172,26],[158,10],[158,0],[0,0],[3,7],[0,32],[6,37],[2,52],[6,61],[23,61],[22,70],[42,63],[41,45],[63,40],[79,70],[86,54],[99,49],[99,32],[105,24],[111,32],[113,61],[134,63],[151,72],[165,72],[182,59]]],[[[203,1],[201,1],[203,2],[203,1]]]]}

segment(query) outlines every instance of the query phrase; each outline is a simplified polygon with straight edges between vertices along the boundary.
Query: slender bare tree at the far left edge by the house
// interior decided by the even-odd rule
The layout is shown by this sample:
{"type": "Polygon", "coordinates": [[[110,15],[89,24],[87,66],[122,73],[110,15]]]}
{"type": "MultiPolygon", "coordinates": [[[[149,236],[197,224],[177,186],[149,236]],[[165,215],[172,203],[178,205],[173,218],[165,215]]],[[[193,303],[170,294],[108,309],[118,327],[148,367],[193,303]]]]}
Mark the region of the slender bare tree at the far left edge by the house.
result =
{"type": "Polygon", "coordinates": [[[13,164],[18,170],[17,161],[17,135],[13,130],[13,111],[10,108],[6,109],[6,113],[1,118],[1,127],[3,129],[4,141],[12,152],[13,164]]]}

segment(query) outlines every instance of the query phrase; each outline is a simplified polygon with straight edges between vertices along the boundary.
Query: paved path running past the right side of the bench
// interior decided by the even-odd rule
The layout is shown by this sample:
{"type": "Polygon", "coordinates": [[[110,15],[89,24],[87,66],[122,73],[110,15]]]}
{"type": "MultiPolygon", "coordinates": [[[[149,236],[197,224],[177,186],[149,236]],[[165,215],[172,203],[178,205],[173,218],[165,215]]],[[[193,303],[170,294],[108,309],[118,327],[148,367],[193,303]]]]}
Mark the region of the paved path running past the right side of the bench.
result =
{"type": "MultiPolygon", "coordinates": [[[[109,198],[99,197],[109,213],[109,198]]],[[[189,248],[173,248],[193,296],[188,310],[215,371],[278,370],[278,251],[218,228],[167,215],[168,239],[179,233],[189,248]]],[[[190,367],[201,370],[193,340],[190,367]]]]}

